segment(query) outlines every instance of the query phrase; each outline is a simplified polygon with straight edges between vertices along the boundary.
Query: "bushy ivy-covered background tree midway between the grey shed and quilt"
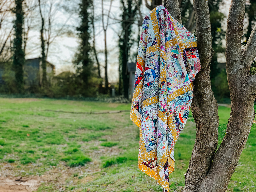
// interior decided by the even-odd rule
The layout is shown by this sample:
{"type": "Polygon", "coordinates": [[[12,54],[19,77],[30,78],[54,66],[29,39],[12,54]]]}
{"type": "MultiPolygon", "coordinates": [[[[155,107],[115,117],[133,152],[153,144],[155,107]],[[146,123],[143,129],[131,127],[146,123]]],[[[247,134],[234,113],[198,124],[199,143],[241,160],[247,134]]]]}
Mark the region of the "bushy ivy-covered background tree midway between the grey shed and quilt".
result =
{"type": "MultiPolygon", "coordinates": [[[[77,71],[79,77],[81,78],[81,84],[86,92],[88,85],[88,80],[92,76],[92,68],[93,63],[90,58],[90,51],[91,45],[89,40],[91,38],[90,35],[90,27],[91,27],[91,7],[92,7],[92,0],[81,0],[79,4],[79,18],[81,19],[80,26],[77,27],[78,36],[80,39],[80,45],[78,48],[78,53],[75,56],[75,64],[77,65],[77,71]]],[[[84,93],[86,94],[86,93],[84,93]]]]}

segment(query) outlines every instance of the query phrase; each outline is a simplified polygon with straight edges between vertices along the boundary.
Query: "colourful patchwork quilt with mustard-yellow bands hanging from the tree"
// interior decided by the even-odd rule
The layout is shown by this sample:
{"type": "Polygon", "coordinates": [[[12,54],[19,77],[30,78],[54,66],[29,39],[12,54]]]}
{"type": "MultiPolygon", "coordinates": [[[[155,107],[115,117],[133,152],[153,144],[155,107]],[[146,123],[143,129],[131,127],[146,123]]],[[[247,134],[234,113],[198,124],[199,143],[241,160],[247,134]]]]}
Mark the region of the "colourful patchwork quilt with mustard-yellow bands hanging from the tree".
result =
{"type": "Polygon", "coordinates": [[[140,36],[131,120],[140,130],[138,167],[169,192],[174,145],[187,121],[201,68],[196,38],[164,6],[145,17],[140,36]]]}

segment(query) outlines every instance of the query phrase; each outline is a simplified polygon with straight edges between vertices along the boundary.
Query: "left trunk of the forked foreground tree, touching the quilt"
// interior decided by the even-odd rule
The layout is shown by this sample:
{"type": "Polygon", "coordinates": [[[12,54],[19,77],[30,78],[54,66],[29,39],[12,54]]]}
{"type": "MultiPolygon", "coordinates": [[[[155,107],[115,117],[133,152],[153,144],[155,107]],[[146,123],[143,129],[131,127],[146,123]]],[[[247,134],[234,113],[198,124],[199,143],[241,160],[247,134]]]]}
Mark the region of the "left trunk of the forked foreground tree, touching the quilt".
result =
{"type": "MultiPolygon", "coordinates": [[[[201,70],[194,81],[191,111],[197,133],[189,167],[185,173],[185,192],[199,191],[197,183],[207,175],[218,146],[218,104],[210,80],[211,23],[208,1],[194,0],[196,34],[201,70]]],[[[207,190],[205,190],[207,191],[207,190]]]]}

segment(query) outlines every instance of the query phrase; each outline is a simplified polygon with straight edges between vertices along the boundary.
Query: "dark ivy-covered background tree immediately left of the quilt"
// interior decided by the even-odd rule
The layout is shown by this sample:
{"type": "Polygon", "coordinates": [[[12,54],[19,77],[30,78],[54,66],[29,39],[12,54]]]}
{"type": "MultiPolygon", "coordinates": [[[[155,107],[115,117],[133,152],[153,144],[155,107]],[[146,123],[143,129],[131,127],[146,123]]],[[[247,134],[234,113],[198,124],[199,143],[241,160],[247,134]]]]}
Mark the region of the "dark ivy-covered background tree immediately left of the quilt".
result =
{"type": "MultiPolygon", "coordinates": [[[[120,68],[120,75],[119,75],[119,86],[122,84],[124,97],[128,98],[128,88],[129,88],[129,75],[126,75],[126,65],[128,62],[128,57],[130,53],[130,49],[135,39],[133,39],[132,33],[132,25],[136,20],[136,15],[138,11],[138,7],[141,5],[141,1],[134,1],[134,0],[121,0],[121,35],[119,36],[118,46],[119,46],[119,68],[120,68]],[[138,3],[138,5],[137,5],[138,3]],[[122,81],[120,82],[120,80],[122,81]]],[[[121,89],[120,89],[121,90],[121,89]]],[[[121,91],[119,91],[121,92],[121,91]]],[[[119,93],[120,94],[120,93],[119,93]]]]}

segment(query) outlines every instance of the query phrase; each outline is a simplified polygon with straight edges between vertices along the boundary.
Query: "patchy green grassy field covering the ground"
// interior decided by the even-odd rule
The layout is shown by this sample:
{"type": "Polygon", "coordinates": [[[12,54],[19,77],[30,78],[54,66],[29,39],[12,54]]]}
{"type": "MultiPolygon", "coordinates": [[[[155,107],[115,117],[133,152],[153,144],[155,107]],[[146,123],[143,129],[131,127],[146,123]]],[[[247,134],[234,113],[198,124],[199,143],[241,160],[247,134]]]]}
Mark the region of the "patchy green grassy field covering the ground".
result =
{"type": "MultiPolygon", "coordinates": [[[[130,112],[61,112],[116,110],[130,110],[130,104],[0,98],[0,185],[14,179],[33,180],[38,192],[161,192],[156,181],[137,167],[139,130],[130,112]]],[[[219,144],[229,113],[230,108],[219,107],[219,144]]],[[[171,191],[183,189],[195,134],[190,115],[174,150],[171,191]]],[[[256,191],[255,150],[253,125],[228,191],[256,191]]]]}

